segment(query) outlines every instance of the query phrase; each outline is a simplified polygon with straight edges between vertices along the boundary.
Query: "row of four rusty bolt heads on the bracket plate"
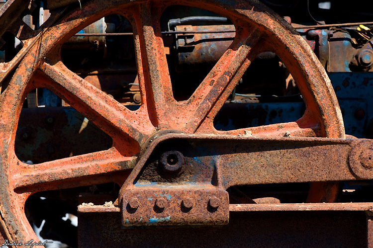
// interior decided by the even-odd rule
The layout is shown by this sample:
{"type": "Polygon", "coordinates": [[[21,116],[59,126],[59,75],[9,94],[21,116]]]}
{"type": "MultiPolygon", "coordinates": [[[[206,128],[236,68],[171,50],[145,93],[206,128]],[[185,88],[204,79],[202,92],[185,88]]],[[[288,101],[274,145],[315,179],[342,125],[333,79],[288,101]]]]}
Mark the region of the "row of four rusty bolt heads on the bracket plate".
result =
{"type": "MultiPolygon", "coordinates": [[[[166,205],[167,205],[167,200],[164,197],[157,198],[154,204],[154,206],[159,209],[164,209],[166,205]]],[[[219,198],[217,198],[216,196],[211,196],[210,199],[208,200],[208,205],[213,209],[217,209],[220,205],[219,198]]],[[[136,197],[132,197],[128,201],[128,206],[131,209],[137,209],[140,206],[139,199],[136,197]]],[[[194,206],[194,200],[190,197],[184,198],[181,203],[181,207],[184,207],[187,209],[191,209],[193,206],[194,206]]]]}

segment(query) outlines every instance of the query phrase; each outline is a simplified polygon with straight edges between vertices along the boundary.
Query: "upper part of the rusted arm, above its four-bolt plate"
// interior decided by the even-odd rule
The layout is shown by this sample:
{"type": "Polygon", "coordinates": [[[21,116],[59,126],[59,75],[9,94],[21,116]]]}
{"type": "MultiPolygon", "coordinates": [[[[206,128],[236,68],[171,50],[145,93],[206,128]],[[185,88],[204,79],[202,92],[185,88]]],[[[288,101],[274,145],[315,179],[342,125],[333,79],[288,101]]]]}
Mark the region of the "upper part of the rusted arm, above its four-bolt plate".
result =
{"type": "Polygon", "coordinates": [[[216,185],[225,189],[233,185],[372,179],[372,148],[372,141],[361,139],[166,134],[152,139],[133,173],[143,170],[137,184],[203,184],[215,180],[216,173],[216,185]],[[157,170],[159,159],[169,151],[177,151],[184,158],[178,174],[157,170]],[[157,170],[157,176],[152,169],[157,170]]]}

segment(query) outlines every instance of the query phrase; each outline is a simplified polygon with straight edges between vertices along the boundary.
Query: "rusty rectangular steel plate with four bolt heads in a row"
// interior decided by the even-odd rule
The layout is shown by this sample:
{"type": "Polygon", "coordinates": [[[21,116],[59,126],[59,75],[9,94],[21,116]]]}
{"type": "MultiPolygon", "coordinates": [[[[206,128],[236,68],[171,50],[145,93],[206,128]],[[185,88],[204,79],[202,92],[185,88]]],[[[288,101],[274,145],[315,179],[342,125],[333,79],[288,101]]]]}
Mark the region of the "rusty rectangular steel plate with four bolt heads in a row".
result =
{"type": "Polygon", "coordinates": [[[123,226],[228,224],[228,192],[223,189],[208,185],[203,189],[143,188],[125,191],[121,205],[123,226]]]}

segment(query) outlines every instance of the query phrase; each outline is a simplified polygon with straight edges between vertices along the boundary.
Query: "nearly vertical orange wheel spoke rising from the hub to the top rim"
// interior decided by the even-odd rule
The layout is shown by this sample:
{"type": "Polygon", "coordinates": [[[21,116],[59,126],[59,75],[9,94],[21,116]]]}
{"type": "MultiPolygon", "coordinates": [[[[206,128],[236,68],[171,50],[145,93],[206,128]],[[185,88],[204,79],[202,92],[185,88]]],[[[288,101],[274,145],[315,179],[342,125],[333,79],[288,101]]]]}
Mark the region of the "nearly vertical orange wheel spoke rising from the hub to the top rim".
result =
{"type": "Polygon", "coordinates": [[[162,9],[140,4],[133,15],[135,50],[139,70],[140,89],[145,92],[151,120],[159,128],[170,128],[168,110],[175,100],[168,71],[159,19],[162,9]]]}

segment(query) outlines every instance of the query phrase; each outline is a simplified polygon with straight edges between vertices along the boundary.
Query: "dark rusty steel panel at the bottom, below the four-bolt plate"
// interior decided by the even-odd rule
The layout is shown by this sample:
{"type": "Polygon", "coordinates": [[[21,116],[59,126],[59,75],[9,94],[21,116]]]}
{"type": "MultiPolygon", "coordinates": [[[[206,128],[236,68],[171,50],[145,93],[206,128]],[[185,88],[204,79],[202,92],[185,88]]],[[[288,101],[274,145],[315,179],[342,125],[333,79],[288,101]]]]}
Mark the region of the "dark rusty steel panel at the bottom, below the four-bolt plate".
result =
{"type": "Polygon", "coordinates": [[[365,211],[230,212],[226,226],[125,229],[119,212],[78,217],[79,247],[367,247],[365,211]]]}

